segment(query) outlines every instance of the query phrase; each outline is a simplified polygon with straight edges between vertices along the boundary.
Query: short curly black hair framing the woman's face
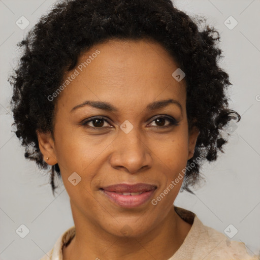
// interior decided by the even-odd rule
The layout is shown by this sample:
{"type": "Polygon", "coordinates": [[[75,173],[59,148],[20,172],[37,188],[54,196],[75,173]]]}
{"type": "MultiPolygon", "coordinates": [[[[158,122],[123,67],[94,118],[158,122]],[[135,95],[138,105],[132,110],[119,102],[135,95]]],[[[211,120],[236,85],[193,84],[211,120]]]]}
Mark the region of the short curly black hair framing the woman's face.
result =
{"type": "MultiPolygon", "coordinates": [[[[150,39],[165,47],[185,72],[189,130],[199,131],[194,155],[187,161],[182,190],[201,178],[202,161],[216,160],[223,151],[224,126],[240,115],[228,108],[229,75],[217,64],[222,51],[219,33],[174,7],[170,0],[67,0],[57,2],[41,17],[17,46],[22,47],[18,68],[8,81],[13,86],[11,108],[16,136],[25,146],[25,157],[42,169],[49,167],[39,149],[37,130],[53,136],[57,99],[48,100],[79,56],[95,44],[110,39],[150,39]],[[202,160],[196,160],[201,157],[202,160]]],[[[54,194],[58,164],[51,166],[54,194]]]]}

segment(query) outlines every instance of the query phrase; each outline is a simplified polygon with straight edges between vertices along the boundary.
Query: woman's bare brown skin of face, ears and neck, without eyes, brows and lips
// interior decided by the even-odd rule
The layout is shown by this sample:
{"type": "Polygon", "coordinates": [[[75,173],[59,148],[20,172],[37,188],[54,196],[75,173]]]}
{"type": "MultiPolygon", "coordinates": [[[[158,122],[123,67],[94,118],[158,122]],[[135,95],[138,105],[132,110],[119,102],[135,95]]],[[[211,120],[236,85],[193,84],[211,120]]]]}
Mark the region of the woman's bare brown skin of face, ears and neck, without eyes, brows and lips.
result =
{"type": "Polygon", "coordinates": [[[157,188],[151,199],[156,199],[185,168],[199,135],[196,128],[188,132],[185,80],[172,77],[178,65],[158,43],[110,40],[83,53],[78,65],[97,49],[101,53],[58,96],[54,139],[50,133],[38,133],[40,150],[45,160],[49,157],[46,162],[60,167],[76,227],[75,238],[63,247],[63,259],[87,255],[102,260],[166,260],[191,228],[173,206],[183,179],[156,206],[149,200],[134,209],[114,204],[100,187],[153,184],[157,188]],[[146,109],[152,102],[169,99],[182,109],[176,104],[146,109]],[[71,112],[86,100],[109,102],[118,111],[86,105],[71,112]],[[179,124],[155,120],[166,115],[179,124]],[[93,129],[99,127],[94,121],[80,124],[93,116],[105,117],[107,121],[99,122],[103,129],[93,129]],[[128,134],[120,129],[125,120],[134,126],[128,134]],[[74,172],[81,177],[76,186],[68,181],[74,172]]]}

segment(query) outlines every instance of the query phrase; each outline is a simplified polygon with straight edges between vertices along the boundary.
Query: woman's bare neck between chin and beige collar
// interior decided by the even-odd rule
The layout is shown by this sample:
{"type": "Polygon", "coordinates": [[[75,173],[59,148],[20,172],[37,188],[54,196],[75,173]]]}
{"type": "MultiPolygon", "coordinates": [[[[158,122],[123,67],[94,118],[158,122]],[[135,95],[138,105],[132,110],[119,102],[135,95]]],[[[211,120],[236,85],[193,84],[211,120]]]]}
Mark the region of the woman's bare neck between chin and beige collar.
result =
{"type": "Polygon", "coordinates": [[[78,221],[76,235],[63,247],[63,260],[158,259],[170,258],[181,246],[191,225],[182,220],[174,207],[167,217],[143,237],[115,237],[92,223],[78,221]],[[84,223],[84,226],[82,226],[84,223]]]}

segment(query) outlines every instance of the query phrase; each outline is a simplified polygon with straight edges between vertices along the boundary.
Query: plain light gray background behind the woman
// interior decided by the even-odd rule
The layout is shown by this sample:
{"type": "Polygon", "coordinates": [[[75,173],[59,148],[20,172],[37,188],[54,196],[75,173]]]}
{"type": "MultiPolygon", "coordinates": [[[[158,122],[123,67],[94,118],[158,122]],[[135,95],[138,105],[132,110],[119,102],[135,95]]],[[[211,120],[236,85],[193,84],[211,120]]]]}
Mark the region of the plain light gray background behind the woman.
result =
{"type": "MultiPolygon", "coordinates": [[[[48,173],[25,160],[24,148],[11,132],[12,92],[7,77],[19,54],[16,43],[54,2],[0,0],[0,259],[38,259],[74,225],[62,183],[54,198],[48,173]],[[21,16],[30,22],[24,30],[16,25],[21,16]],[[23,239],[16,233],[21,224],[29,229],[23,239]]],[[[203,168],[206,183],[196,196],[180,193],[175,205],[193,211],[204,224],[222,233],[233,224],[238,233],[232,240],[243,241],[249,251],[257,254],[260,251],[260,1],[178,0],[175,5],[188,14],[206,16],[208,23],[219,30],[220,48],[225,55],[221,66],[233,83],[230,106],[242,115],[225,146],[225,154],[203,168]],[[224,24],[230,16],[238,21],[233,29],[224,24]]],[[[229,23],[232,26],[234,21],[229,23]]]]}

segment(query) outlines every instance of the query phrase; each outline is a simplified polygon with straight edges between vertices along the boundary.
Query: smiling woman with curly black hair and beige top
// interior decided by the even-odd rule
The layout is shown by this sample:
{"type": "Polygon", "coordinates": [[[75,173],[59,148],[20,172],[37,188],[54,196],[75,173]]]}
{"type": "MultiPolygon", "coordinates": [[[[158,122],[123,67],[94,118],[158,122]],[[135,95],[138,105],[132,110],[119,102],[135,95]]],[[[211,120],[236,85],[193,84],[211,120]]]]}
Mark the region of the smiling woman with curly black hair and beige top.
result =
{"type": "Polygon", "coordinates": [[[170,0],[74,0],[19,43],[16,135],[53,192],[62,178],[75,222],[42,259],[257,259],[174,206],[240,120],[200,22],[170,0]]]}

